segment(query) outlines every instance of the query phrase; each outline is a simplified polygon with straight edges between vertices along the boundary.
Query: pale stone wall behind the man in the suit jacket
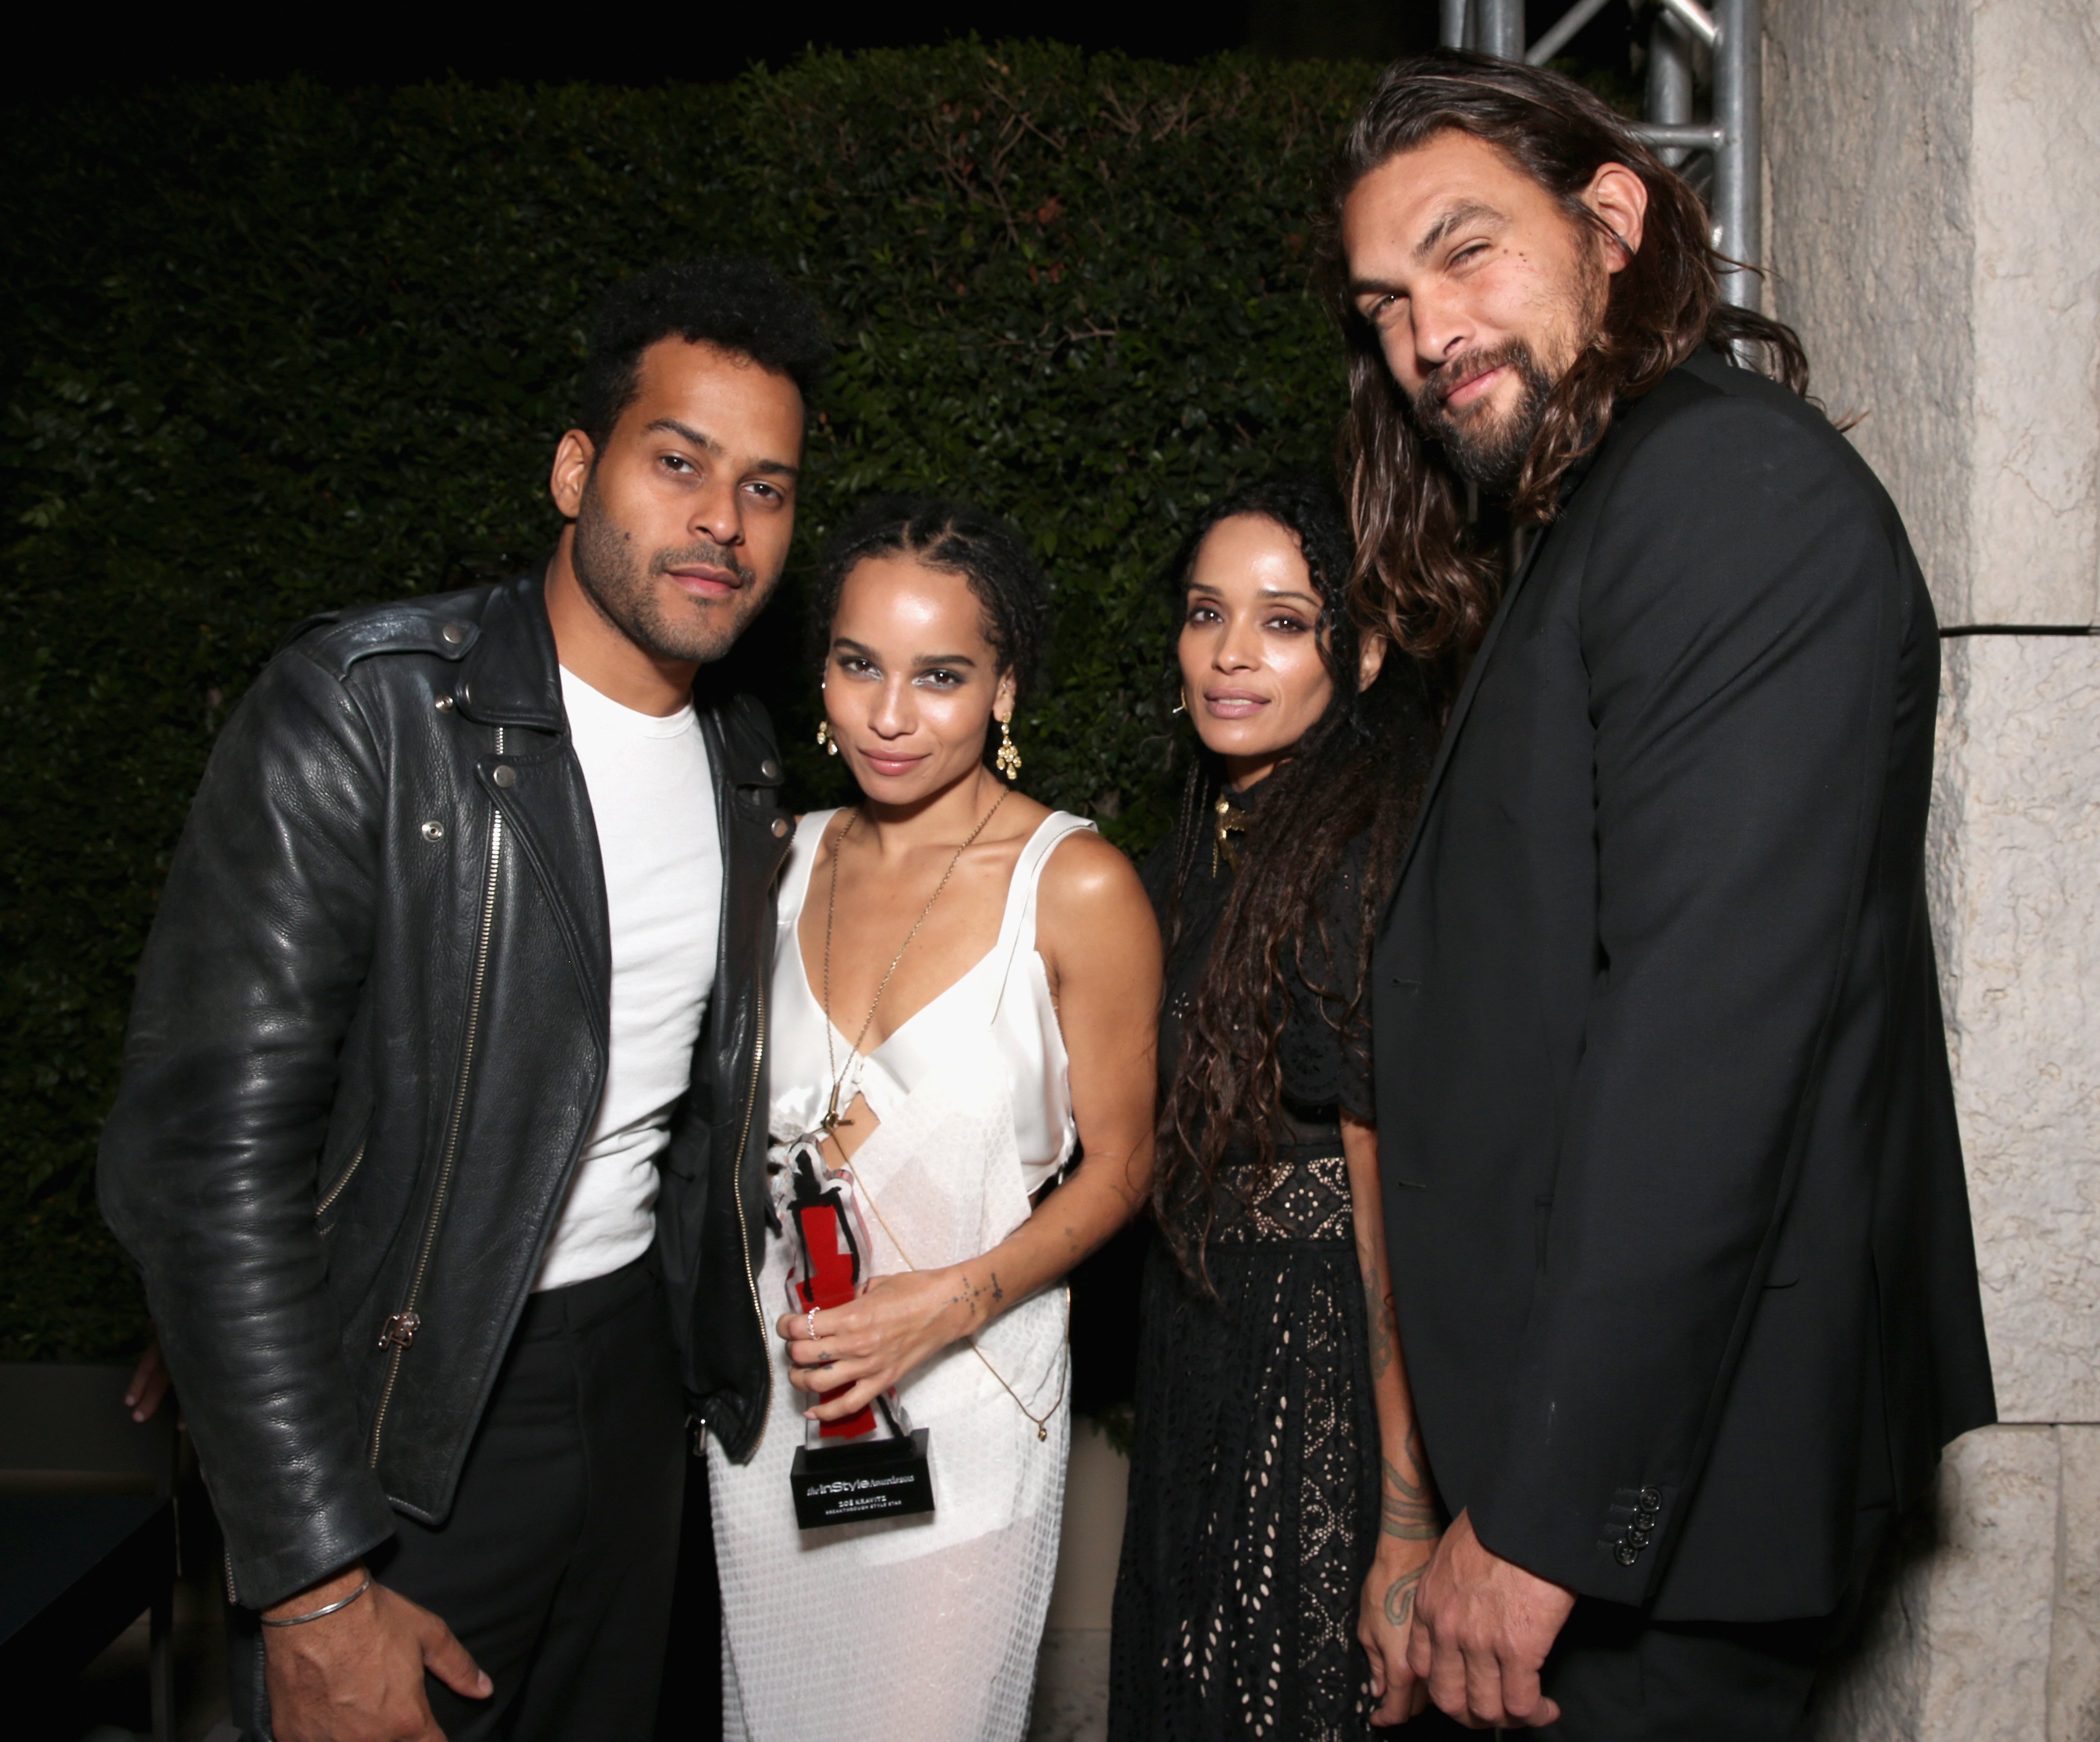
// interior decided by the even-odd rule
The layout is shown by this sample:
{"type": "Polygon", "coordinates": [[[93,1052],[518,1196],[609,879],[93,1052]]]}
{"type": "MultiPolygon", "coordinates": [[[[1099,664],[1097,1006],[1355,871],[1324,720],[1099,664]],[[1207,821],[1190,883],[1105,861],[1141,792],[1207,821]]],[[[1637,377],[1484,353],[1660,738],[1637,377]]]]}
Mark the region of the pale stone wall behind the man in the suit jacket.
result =
{"type": "Polygon", "coordinates": [[[1770,0],[1772,306],[1942,644],[1932,909],[2001,1425],[1827,1742],[2100,1738],[2100,8],[1770,0]],[[1961,634],[1970,632],[1970,634],[1961,634]]]}

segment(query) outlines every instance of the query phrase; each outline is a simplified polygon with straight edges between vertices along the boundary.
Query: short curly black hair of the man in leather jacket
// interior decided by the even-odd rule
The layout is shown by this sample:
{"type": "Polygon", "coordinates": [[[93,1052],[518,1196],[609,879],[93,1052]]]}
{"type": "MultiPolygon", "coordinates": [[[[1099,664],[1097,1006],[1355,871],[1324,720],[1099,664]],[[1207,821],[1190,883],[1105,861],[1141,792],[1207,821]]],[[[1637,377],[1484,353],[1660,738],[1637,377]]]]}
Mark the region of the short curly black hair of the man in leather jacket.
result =
{"type": "Polygon", "coordinates": [[[601,449],[640,390],[643,353],[662,338],[714,344],[788,376],[806,407],[832,361],[815,304],[764,260],[670,260],[598,302],[584,359],[578,428],[601,449]]]}

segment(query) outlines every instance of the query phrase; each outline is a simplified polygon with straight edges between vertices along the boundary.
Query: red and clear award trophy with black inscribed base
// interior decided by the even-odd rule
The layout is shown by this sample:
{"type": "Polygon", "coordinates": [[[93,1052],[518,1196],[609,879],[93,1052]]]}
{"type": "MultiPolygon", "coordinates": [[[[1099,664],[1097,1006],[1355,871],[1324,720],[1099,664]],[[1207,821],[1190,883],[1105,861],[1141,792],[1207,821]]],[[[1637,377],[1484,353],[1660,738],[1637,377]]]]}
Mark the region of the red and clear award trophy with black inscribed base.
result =
{"type": "MultiPolygon", "coordinates": [[[[827,1169],[808,1140],[794,1146],[788,1169],[788,1221],[794,1230],[790,1305],[794,1312],[846,1305],[861,1293],[867,1251],[853,1180],[827,1169]]],[[[817,1402],[836,1396],[821,1392],[817,1402]]],[[[804,1444],[796,1446],[788,1473],[802,1530],[932,1511],[926,1429],[911,1429],[895,1392],[838,1421],[804,1421],[802,1427],[804,1444]]]]}

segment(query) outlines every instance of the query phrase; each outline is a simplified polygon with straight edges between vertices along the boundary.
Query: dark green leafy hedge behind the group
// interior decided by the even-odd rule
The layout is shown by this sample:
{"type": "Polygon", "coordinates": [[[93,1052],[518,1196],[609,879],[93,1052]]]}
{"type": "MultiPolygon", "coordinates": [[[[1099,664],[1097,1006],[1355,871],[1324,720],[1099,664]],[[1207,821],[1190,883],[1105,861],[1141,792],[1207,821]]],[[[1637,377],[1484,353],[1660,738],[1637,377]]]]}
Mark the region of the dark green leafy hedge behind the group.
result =
{"type": "MultiPolygon", "coordinates": [[[[288,623],[512,571],[588,311],[754,252],[840,342],[798,565],[855,497],[1010,514],[1058,592],[1029,791],[1166,816],[1153,588],[1191,510],[1319,466],[1312,180],[1367,67],[1046,44],[731,86],[202,88],[0,120],[0,1358],[132,1347],[94,1211],[130,974],[212,732],[288,623]]],[[[794,581],[739,651],[834,795],[794,581]]]]}

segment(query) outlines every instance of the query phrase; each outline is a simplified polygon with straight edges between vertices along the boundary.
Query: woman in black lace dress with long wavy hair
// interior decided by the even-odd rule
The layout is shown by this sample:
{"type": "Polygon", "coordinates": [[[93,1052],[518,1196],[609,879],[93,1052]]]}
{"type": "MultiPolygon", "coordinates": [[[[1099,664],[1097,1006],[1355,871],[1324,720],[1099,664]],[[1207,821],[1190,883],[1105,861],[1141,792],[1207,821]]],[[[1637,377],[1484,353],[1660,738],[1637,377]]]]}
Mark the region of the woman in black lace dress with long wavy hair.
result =
{"type": "Polygon", "coordinates": [[[1357,989],[1434,726],[1348,573],[1338,506],[1289,481],[1222,502],[1180,567],[1199,747],[1144,871],[1163,1112],[1111,1742],[1363,1738],[1424,1704],[1407,1620],[1441,1524],[1357,989]]]}

